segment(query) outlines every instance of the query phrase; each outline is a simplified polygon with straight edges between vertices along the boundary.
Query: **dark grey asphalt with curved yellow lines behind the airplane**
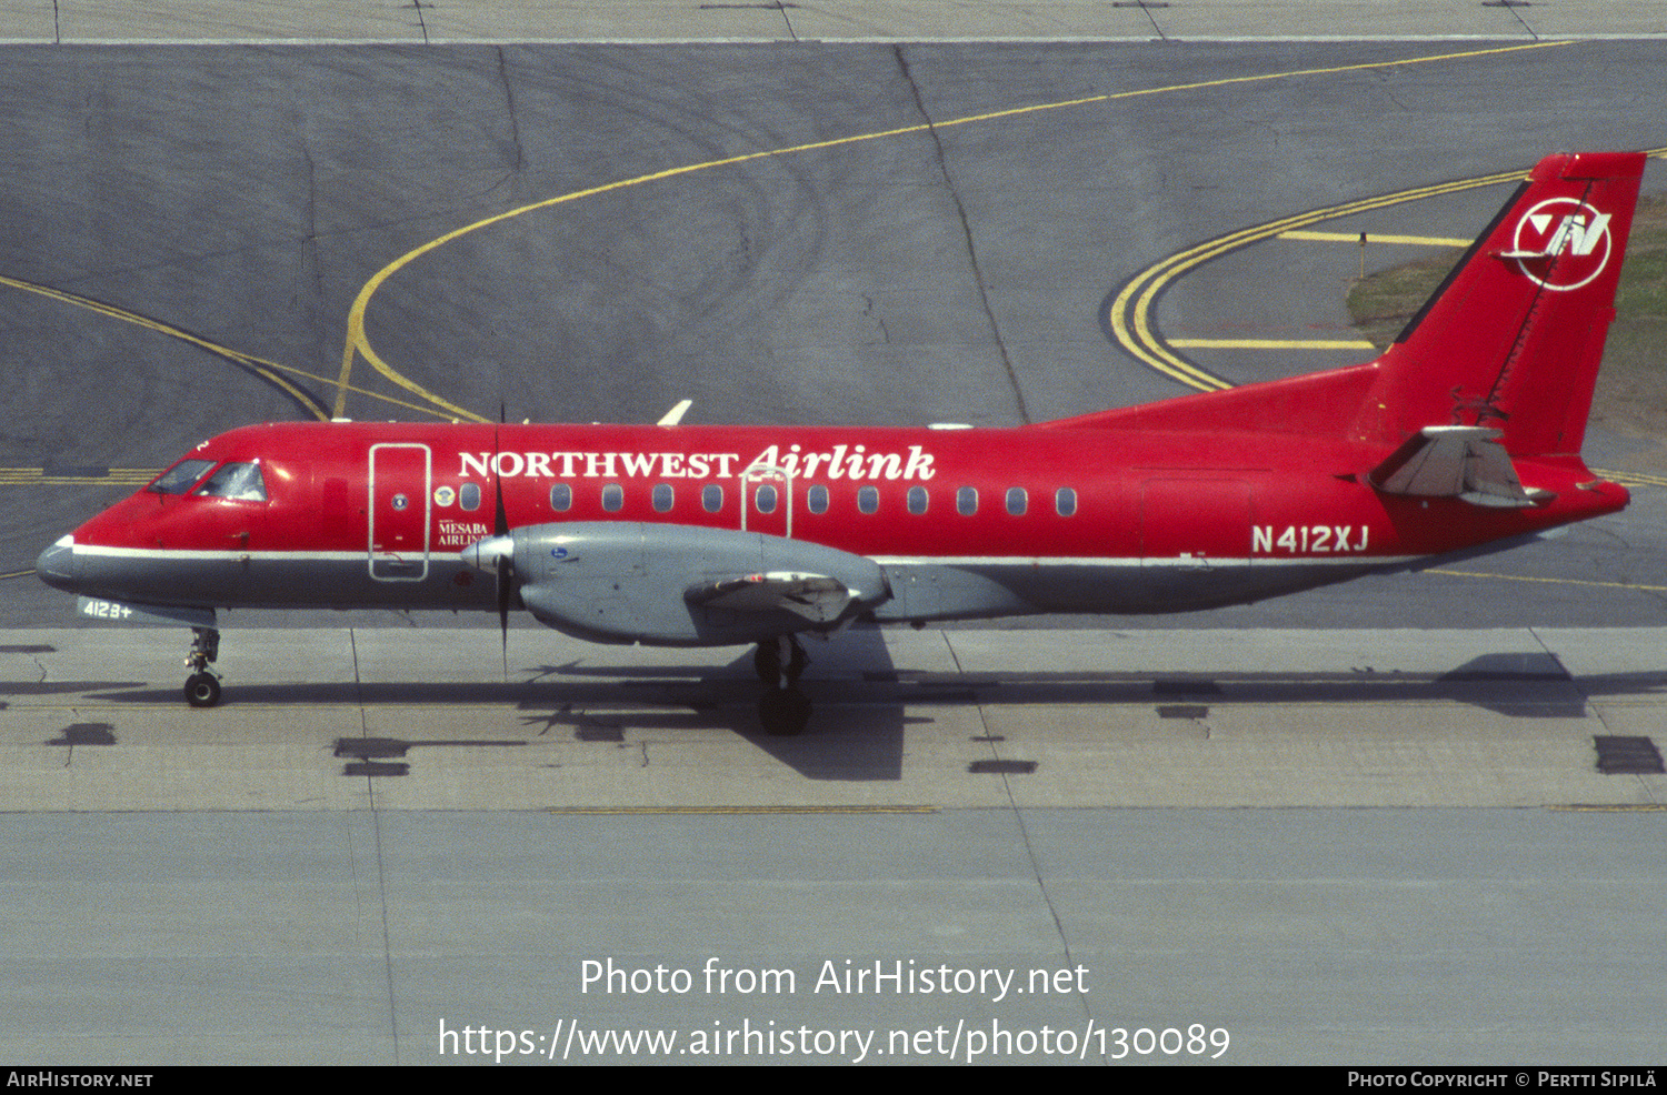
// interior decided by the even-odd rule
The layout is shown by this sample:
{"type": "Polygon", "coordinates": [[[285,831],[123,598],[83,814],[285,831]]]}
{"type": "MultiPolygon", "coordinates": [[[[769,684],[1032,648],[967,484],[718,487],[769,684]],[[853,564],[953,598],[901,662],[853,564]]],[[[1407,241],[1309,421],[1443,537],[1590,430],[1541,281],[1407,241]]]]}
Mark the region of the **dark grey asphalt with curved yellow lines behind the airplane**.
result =
{"type": "MultiPolygon", "coordinates": [[[[22,383],[0,392],[0,573],[27,572],[132,470],[260,418],[652,422],[692,398],[690,422],[1012,425],[1175,395],[1105,335],[1127,278],[1345,198],[1555,147],[1660,147],[1659,53],[10,47],[0,307],[22,383]]],[[[1645,185],[1660,177],[1652,162],[1645,185]]],[[[1347,227],[1462,237],[1504,190],[1347,227]]],[[[1227,255],[1169,285],[1157,322],[1175,340],[1347,330],[1355,252],[1227,255]]],[[[1197,353],[1234,382],[1364,355],[1197,353]]],[[[1602,428],[1587,455],[1659,463],[1602,428]]],[[[1657,623],[1655,490],[1465,568],[1504,577],[1345,587],[1204,625],[1657,623]]],[[[0,582],[0,625],[65,622],[50,590],[0,582]]]]}

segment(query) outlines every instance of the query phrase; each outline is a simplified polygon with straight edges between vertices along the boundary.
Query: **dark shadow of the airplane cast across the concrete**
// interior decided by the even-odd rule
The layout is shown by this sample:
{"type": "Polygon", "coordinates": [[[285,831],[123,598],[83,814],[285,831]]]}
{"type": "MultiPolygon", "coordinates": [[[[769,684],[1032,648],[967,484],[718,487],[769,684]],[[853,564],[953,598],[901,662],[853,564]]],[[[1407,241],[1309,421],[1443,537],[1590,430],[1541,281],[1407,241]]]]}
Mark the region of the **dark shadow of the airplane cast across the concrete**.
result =
{"type": "MultiPolygon", "coordinates": [[[[1580,677],[1550,653],[1487,653],[1440,673],[1402,672],[1222,672],[1189,675],[1139,670],[917,672],[892,665],[879,633],[854,633],[827,665],[802,682],[815,703],[798,737],[765,733],[755,703],[760,683],[750,653],[728,665],[652,667],[542,665],[530,680],[388,683],[242,683],[222,708],[250,705],[490,705],[518,712],[522,733],[503,740],[342,738],[335,755],[347,775],[405,775],[425,747],[532,745],[550,735],[620,748],[643,733],[725,730],[753,743],[808,780],[887,782],[902,778],[905,735],[935,722],[939,707],[1122,705],[1152,707],[1160,718],[1192,720],[1212,707],[1309,703],[1450,702],[1515,718],[1582,718],[1589,698],[1654,695],[1667,670],[1580,677]]],[[[10,695],[92,695],[103,703],[177,705],[173,688],[137,682],[8,683],[10,695]]]]}

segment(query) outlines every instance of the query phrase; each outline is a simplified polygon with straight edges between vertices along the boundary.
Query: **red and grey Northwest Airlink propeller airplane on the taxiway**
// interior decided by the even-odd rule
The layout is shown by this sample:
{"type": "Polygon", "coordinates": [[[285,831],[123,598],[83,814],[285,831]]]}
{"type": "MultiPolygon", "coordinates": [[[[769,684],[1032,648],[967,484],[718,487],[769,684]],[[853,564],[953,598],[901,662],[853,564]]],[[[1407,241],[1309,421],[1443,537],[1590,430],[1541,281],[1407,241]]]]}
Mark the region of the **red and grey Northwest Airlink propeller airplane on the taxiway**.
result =
{"type": "Polygon", "coordinates": [[[98,618],[217,607],[528,610],[607,643],[852,620],[1254,602],[1614,513],[1580,460],[1642,153],[1534,168],[1375,362],[1022,428],[267,423],[200,443],[47,548],[98,618]]]}

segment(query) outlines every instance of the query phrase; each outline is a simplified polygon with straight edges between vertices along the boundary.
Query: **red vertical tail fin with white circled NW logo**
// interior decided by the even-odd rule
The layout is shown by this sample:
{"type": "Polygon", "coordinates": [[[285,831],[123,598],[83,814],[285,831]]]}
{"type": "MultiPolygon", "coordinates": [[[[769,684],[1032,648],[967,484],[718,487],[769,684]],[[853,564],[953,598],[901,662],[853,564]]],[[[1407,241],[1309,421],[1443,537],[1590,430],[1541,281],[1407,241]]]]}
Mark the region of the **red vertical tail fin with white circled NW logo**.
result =
{"type": "Polygon", "coordinates": [[[1489,427],[1510,455],[1579,453],[1644,153],[1540,160],[1377,360],[1355,435],[1489,427]]]}

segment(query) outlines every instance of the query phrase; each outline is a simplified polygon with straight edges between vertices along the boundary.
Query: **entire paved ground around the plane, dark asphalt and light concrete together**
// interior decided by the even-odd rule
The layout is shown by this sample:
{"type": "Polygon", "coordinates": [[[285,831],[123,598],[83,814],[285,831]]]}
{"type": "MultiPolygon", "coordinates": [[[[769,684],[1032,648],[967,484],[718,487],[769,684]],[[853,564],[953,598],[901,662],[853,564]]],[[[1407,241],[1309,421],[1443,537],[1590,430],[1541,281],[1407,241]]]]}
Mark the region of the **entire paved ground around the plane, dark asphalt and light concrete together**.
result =
{"type": "MultiPolygon", "coordinates": [[[[0,48],[3,573],[130,490],[122,468],[343,392],[358,418],[452,413],[437,397],[653,420],[692,397],[700,422],[899,423],[1179,393],[1100,327],[1150,263],[1557,147],[1667,143],[1664,45],[1552,45],[1574,17],[1545,7],[1385,7],[1384,33],[1490,40],[1179,43],[1205,10],[1222,37],[1359,13],[1050,5],[1037,27],[987,5],[1022,27],[965,33],[1117,18],[1159,40],[980,43],[917,42],[949,32],[907,20],[949,5],[705,5],[687,18],[760,43],[657,47],[555,43],[648,32],[523,5],[352,30],[342,5],[212,7],[0,23],[77,43],[0,48]],[[782,42],[835,18],[864,33],[817,33],[869,40],[782,42]],[[232,37],[268,45],[113,43],[232,37]]],[[[1630,12],[1574,30],[1634,33],[1630,12]]],[[[1460,235],[1502,198],[1364,227],[1460,235]]],[[[1159,322],[1330,333],[1355,260],[1250,248],[1170,287],[1159,322]]],[[[1234,380],[1337,360],[1210,355],[1234,380]]],[[[1524,552],[1204,620],[854,630],[813,652],[798,738],[757,728],[742,652],[517,628],[505,655],[493,620],[238,613],[227,703],[190,712],[183,633],[60,630],[65,598],[0,578],[0,1047],[483,1060],[447,1053],[450,1023],[528,1032],[540,1052],[513,1057],[547,1060],[575,1027],[792,1025],[905,1032],[889,1050],[925,1032],[929,1060],[954,1058],[935,1032],[1005,1028],[1000,1060],[1209,1058],[1224,1030],[1240,1063],[1650,1062],[1667,777],[1625,765],[1662,725],[1664,513],[1645,483],[1524,552]],[[795,990],[582,983],[585,962],[712,958],[795,990]],[[813,992],[828,962],[1062,990],[813,992]],[[1044,1028],[1089,1048],[1044,1053],[1044,1028]],[[1120,1057],[1119,1028],[1157,1048],[1120,1057]]]]}

